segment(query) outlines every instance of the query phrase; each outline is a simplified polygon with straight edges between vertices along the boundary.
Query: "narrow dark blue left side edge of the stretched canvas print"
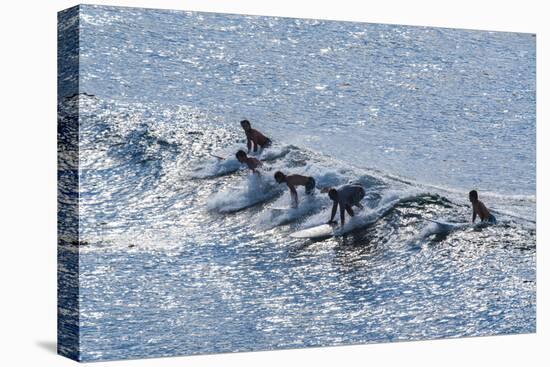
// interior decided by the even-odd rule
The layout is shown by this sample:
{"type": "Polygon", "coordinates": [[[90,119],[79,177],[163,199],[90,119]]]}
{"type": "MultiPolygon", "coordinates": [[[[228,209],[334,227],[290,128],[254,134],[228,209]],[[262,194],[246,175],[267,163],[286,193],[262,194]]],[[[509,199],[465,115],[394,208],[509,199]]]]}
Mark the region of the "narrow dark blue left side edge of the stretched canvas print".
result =
{"type": "Polygon", "coordinates": [[[57,23],[57,351],[80,360],[79,7],[57,23]]]}

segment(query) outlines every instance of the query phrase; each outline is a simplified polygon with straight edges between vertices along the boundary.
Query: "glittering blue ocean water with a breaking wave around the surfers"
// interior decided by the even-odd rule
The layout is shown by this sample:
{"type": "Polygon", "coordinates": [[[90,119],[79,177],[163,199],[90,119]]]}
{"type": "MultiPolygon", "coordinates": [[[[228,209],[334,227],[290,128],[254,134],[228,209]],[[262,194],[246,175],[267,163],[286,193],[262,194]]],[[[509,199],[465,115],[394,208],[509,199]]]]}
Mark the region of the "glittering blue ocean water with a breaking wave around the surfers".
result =
{"type": "Polygon", "coordinates": [[[75,17],[81,94],[61,83],[59,111],[80,114],[80,242],[59,249],[80,359],[535,331],[533,35],[96,6],[61,26],[75,17]],[[243,118],[274,141],[261,177],[234,159],[243,118]],[[290,202],[276,170],[360,182],[366,208],[343,235],[291,238],[330,201],[299,189],[272,210],[290,202]],[[474,188],[497,225],[466,224],[474,188]]]}

